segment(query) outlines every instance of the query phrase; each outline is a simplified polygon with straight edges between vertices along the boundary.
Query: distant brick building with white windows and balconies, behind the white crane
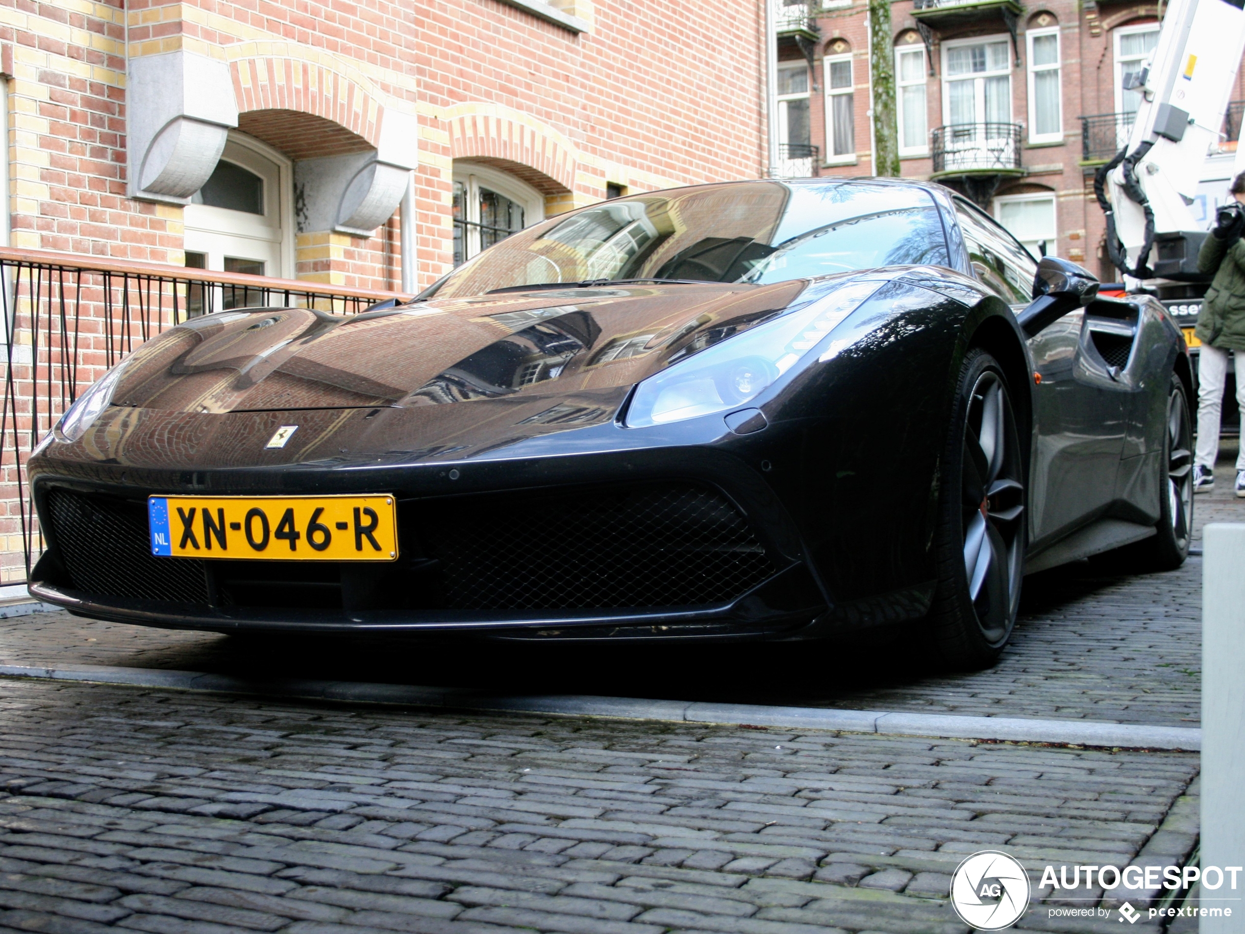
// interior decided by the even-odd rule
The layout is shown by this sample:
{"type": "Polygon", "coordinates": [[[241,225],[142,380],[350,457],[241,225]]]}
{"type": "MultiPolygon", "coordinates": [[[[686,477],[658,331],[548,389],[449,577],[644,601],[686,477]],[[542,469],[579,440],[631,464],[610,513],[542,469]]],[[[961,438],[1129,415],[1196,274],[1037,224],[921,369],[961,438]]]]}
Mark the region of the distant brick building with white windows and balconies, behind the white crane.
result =
{"type": "MultiPolygon", "coordinates": [[[[815,2],[778,7],[781,169],[868,176],[867,6],[815,2]]],[[[1123,90],[1123,76],[1153,50],[1158,16],[1135,0],[898,0],[901,173],[972,197],[1035,253],[1047,240],[1051,253],[1118,279],[1093,172],[1127,141],[1138,92],[1123,90]]],[[[1245,98],[1241,81],[1234,101],[1245,98]]],[[[1235,137],[1239,107],[1229,116],[1235,137]]],[[[1225,141],[1225,152],[1234,148],[1225,141]]],[[[1230,159],[1220,161],[1226,178],[1230,159]]],[[[1204,197],[1224,193],[1206,186],[1204,197]]]]}

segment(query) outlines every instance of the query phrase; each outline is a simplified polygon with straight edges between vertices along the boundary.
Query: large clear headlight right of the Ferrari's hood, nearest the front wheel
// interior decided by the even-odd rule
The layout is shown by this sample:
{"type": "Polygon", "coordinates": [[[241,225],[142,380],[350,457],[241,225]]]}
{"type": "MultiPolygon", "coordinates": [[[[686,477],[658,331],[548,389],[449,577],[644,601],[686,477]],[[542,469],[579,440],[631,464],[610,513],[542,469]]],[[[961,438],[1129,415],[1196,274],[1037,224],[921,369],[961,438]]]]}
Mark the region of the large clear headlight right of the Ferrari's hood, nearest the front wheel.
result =
{"type": "Polygon", "coordinates": [[[880,286],[879,281],[845,285],[650,376],[636,386],[626,426],[725,412],[761,395],[880,286]]]}

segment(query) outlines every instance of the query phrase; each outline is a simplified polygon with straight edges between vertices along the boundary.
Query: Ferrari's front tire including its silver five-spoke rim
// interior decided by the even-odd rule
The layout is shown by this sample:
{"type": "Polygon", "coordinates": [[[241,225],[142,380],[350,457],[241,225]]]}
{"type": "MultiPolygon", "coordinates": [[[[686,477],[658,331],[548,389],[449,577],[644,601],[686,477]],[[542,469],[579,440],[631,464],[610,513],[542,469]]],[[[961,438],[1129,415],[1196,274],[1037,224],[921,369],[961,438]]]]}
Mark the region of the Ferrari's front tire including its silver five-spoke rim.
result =
{"type": "Polygon", "coordinates": [[[934,538],[928,631],[946,666],[994,665],[1016,625],[1027,538],[1021,451],[1002,367],[975,347],[960,369],[934,538]]]}

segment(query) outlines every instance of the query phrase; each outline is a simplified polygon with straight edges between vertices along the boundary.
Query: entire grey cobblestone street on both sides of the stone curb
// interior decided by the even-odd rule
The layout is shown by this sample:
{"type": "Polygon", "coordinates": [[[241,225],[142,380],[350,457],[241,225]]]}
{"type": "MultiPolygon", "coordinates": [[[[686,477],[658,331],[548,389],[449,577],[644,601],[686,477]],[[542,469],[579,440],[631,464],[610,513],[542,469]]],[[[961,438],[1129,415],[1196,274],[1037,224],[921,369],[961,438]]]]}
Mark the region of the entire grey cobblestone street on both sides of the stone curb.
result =
{"type": "MultiPolygon", "coordinates": [[[[1220,474],[1199,528],[1245,517],[1220,474]]],[[[0,661],[1196,726],[1200,572],[1031,578],[1013,645],[975,675],[924,675],[903,646],[464,658],[66,614],[2,620],[0,661]]],[[[1179,864],[1198,832],[1195,753],[16,679],[0,732],[0,932],[939,934],[967,930],[946,893],[972,852],[1005,849],[1036,887],[1046,864],[1179,864]]],[[[1162,893],[1088,898],[1116,894],[1162,893]]],[[[1018,927],[1119,930],[1051,904],[1092,902],[1018,927]]]]}

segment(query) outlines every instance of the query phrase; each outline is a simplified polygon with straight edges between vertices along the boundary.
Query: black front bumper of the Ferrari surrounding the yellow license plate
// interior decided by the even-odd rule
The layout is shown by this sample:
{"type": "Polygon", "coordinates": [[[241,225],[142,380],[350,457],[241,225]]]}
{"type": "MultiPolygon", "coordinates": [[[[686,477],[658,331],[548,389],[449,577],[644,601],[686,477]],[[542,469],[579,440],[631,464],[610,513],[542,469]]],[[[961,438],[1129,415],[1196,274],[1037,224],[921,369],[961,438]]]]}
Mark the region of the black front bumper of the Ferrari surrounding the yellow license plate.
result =
{"type": "Polygon", "coordinates": [[[630,433],[614,426],[574,433],[579,451],[453,463],[355,457],[174,473],[45,453],[32,489],[50,547],[31,593],[96,619],[214,631],[799,638],[824,615],[797,527],[751,466],[774,456],[781,432],[756,450],[733,436],[618,450],[609,442],[630,433]],[[397,567],[203,560],[193,573],[177,565],[181,583],[161,590],[168,562],[187,559],[153,558],[144,526],[100,518],[151,494],[365,492],[398,498],[397,567]],[[67,499],[68,519],[54,508],[67,499]],[[92,526],[95,538],[83,533],[92,526]]]}

